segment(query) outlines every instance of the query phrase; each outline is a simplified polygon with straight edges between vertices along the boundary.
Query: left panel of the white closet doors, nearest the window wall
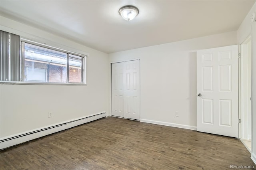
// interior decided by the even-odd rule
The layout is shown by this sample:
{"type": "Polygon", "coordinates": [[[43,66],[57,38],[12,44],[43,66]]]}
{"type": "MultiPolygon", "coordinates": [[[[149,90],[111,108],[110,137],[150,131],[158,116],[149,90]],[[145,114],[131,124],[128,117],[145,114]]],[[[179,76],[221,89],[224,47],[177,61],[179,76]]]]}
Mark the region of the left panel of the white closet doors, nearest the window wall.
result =
{"type": "Polygon", "coordinates": [[[124,117],[124,63],[112,63],[111,112],[124,117]]]}

